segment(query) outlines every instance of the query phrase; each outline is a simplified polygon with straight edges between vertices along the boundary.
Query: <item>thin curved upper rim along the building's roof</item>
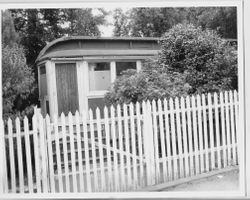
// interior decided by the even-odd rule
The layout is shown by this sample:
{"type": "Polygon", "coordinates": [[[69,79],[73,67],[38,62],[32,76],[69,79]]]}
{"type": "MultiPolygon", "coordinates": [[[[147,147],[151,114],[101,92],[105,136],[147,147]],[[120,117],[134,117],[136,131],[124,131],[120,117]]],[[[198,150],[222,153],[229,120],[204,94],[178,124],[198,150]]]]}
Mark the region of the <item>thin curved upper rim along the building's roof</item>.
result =
{"type": "MultiPolygon", "coordinates": [[[[42,59],[44,59],[43,55],[46,53],[46,51],[54,46],[55,44],[59,42],[64,41],[70,41],[70,40],[106,40],[106,41],[158,41],[160,38],[156,37],[90,37],[90,36],[69,36],[69,37],[62,37],[58,38],[56,40],[53,40],[52,42],[48,43],[42,51],[39,53],[36,63],[42,59]]],[[[46,56],[47,57],[47,56],[46,56]]]]}

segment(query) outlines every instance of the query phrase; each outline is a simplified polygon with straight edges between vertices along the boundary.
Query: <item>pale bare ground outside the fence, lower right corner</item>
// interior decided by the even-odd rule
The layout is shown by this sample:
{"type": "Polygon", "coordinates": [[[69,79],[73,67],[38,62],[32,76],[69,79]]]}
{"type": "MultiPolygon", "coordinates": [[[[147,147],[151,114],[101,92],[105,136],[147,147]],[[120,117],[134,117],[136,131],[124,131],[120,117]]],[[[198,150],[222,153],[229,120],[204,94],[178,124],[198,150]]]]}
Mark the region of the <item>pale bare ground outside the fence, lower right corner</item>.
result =
{"type": "Polygon", "coordinates": [[[238,190],[239,186],[239,170],[231,170],[214,176],[190,181],[188,183],[179,184],[161,191],[233,191],[238,190]]]}

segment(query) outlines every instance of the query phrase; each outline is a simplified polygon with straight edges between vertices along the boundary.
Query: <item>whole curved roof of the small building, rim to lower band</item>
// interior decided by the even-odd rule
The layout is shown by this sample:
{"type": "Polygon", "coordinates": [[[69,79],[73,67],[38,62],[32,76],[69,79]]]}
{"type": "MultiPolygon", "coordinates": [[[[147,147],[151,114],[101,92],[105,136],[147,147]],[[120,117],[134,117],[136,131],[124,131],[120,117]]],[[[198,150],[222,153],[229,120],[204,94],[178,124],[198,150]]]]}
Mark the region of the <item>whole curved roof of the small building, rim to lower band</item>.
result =
{"type": "Polygon", "coordinates": [[[159,38],[153,37],[62,37],[48,43],[39,53],[36,63],[52,57],[150,56],[157,53],[158,41],[159,38]],[[113,46],[109,46],[111,43],[113,46]],[[134,46],[131,47],[131,44],[134,46]]]}

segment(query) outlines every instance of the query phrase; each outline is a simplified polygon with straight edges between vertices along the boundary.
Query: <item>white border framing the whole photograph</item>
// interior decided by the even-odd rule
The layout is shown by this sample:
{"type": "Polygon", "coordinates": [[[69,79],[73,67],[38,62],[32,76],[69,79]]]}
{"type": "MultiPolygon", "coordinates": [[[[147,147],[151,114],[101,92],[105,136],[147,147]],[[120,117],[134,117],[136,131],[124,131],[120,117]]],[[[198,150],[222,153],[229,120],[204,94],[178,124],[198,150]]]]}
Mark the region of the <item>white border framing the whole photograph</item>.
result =
{"type": "MultiPolygon", "coordinates": [[[[119,192],[119,193],[49,193],[49,194],[4,194],[0,198],[74,198],[74,199],[109,199],[109,198],[242,198],[250,196],[250,156],[246,152],[250,152],[250,30],[247,29],[247,19],[250,19],[250,1],[248,0],[152,0],[152,1],[123,1],[119,2],[99,0],[99,1],[69,1],[69,0],[6,0],[0,1],[0,9],[14,8],[79,8],[79,7],[205,7],[205,6],[236,6],[237,7],[237,30],[238,30],[238,83],[239,83],[239,133],[243,133],[239,137],[238,151],[239,153],[239,191],[208,191],[208,192],[119,192]],[[248,11],[248,12],[247,12],[248,11]],[[248,79],[249,80],[248,80],[248,79]],[[247,110],[246,110],[247,109],[247,110]],[[248,134],[246,134],[248,133],[248,134]],[[248,144],[248,145],[247,145],[248,144]],[[249,157],[249,158],[248,158],[249,157]]],[[[1,26],[2,27],[2,26],[1,26]]],[[[1,42],[1,39],[0,39],[1,42]]],[[[0,52],[1,54],[2,52],[0,52]]],[[[0,60],[2,54],[0,55],[0,60]]],[[[2,63],[2,62],[1,62],[2,63]]],[[[1,70],[2,73],[2,70],[1,70]]],[[[2,76],[1,76],[2,77],[2,76]]],[[[0,88],[2,88],[2,79],[0,78],[0,88]]],[[[2,90],[0,92],[2,97],[2,90]]],[[[0,116],[2,115],[2,98],[0,98],[0,116]]],[[[0,123],[0,125],[2,125],[0,123]]],[[[3,130],[3,129],[1,129],[3,130]]],[[[0,131],[2,132],[2,131],[0,131]]],[[[0,141],[0,146],[3,141],[0,141]]],[[[2,156],[2,155],[1,155],[2,156]]],[[[0,157],[1,159],[1,157],[0,157]]],[[[0,169],[1,170],[1,169],[0,169]]]]}

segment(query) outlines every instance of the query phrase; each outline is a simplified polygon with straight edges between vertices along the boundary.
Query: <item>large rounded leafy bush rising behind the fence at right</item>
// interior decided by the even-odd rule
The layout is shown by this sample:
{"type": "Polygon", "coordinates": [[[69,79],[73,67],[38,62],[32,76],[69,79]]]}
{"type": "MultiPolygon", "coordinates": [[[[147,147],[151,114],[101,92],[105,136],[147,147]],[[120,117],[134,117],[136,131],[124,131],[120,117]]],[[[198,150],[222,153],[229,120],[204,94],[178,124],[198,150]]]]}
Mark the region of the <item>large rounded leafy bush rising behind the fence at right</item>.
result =
{"type": "Polygon", "coordinates": [[[179,24],[161,39],[158,64],[186,74],[189,93],[237,89],[237,52],[214,31],[179,24]]]}

